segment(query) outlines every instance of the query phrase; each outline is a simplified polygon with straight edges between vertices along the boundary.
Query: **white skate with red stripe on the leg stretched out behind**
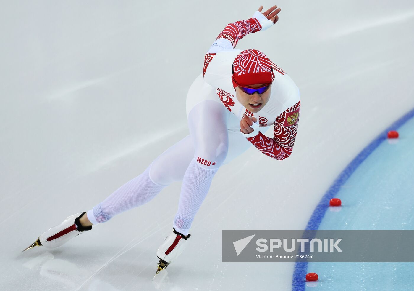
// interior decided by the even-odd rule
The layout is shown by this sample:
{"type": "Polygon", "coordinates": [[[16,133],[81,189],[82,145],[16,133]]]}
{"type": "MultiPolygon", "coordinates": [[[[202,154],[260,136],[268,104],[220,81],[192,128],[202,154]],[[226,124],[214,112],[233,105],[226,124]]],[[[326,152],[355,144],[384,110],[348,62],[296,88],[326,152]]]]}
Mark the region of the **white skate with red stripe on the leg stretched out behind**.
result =
{"type": "MultiPolygon", "coordinates": [[[[72,237],[81,234],[84,230],[91,230],[92,226],[84,227],[79,222],[79,218],[81,218],[85,213],[86,212],[70,215],[63,221],[63,223],[60,223],[46,232],[43,232],[38,237],[36,242],[26,249],[31,249],[36,246],[43,246],[47,248],[60,247],[72,237]]],[[[26,249],[24,249],[23,252],[26,249]]]]}

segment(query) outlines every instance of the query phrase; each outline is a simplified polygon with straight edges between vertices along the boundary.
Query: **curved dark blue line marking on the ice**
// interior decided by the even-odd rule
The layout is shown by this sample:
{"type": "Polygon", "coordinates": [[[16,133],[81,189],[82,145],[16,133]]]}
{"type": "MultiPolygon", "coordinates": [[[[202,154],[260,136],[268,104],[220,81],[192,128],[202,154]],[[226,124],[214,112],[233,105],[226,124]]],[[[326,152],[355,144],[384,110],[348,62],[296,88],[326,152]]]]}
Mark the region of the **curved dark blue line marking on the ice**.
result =
{"type": "MultiPolygon", "coordinates": [[[[341,186],[349,179],[352,173],[358,168],[358,166],[381,144],[385,139],[387,139],[387,133],[390,130],[397,130],[401,125],[403,125],[407,120],[414,117],[414,108],[402,116],[399,120],[394,122],[390,127],[381,132],[378,137],[376,137],[368,146],[366,146],[342,171],[341,174],[334,181],[332,186],[328,189],[322,199],[319,201],[319,204],[316,206],[313,211],[308,225],[306,225],[306,230],[317,230],[319,225],[325,216],[326,210],[328,209],[329,201],[331,198],[335,197],[338,193],[341,186]]],[[[292,291],[305,291],[306,280],[305,275],[308,270],[307,262],[296,262],[292,278],[292,291]]]]}

